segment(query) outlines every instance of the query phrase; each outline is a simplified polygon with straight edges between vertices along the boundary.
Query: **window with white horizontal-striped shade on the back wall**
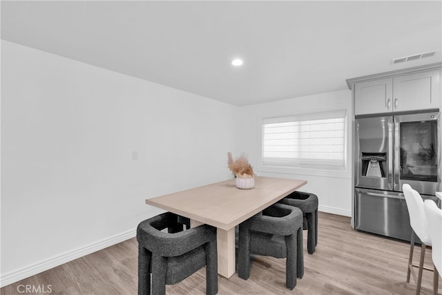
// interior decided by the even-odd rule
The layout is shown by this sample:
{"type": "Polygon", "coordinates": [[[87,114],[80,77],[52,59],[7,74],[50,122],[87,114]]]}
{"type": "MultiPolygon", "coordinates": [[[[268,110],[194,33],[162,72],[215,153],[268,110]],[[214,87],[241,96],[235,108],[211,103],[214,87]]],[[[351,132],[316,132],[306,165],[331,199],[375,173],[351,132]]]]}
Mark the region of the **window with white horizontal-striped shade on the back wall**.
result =
{"type": "Polygon", "coordinates": [[[344,170],[347,111],[262,120],[263,166],[344,170]]]}

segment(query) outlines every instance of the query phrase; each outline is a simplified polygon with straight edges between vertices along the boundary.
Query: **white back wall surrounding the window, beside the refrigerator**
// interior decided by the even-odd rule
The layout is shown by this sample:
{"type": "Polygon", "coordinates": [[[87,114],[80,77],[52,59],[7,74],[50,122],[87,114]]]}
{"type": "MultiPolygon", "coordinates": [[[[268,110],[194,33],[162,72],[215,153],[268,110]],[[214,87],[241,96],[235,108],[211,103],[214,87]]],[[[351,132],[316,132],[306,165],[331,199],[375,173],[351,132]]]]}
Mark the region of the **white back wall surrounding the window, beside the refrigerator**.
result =
{"type": "Polygon", "coordinates": [[[278,117],[302,113],[316,113],[347,109],[347,142],[352,142],[352,92],[334,91],[318,95],[284,99],[278,102],[255,104],[242,107],[240,122],[240,146],[249,154],[258,175],[296,178],[307,180],[307,185],[300,191],[316,193],[320,211],[352,216],[352,146],[347,144],[347,171],[329,173],[323,171],[300,171],[280,169],[272,171],[260,165],[261,162],[261,122],[263,117],[278,117]]]}

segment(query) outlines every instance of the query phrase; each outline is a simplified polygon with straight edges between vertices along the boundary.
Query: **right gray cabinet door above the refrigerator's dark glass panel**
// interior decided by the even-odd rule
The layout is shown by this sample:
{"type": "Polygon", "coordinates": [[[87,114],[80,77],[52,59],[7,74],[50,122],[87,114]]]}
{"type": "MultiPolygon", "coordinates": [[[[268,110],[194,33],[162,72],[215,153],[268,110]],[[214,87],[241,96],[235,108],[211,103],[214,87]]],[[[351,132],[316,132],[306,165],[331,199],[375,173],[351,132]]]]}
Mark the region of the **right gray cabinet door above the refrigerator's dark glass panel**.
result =
{"type": "Polygon", "coordinates": [[[393,111],[439,108],[439,79],[439,70],[394,77],[393,111]]]}

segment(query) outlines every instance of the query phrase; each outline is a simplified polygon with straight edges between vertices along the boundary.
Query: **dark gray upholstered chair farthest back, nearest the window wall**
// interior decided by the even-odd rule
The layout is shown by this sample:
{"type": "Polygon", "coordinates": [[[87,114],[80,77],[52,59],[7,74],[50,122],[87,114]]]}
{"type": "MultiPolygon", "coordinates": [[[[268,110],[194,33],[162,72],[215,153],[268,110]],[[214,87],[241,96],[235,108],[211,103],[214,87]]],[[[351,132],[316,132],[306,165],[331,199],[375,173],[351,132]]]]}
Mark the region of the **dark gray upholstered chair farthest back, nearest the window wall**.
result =
{"type": "Polygon", "coordinates": [[[301,209],[304,216],[302,227],[307,229],[307,251],[314,254],[318,245],[318,196],[294,191],[279,202],[301,209]]]}

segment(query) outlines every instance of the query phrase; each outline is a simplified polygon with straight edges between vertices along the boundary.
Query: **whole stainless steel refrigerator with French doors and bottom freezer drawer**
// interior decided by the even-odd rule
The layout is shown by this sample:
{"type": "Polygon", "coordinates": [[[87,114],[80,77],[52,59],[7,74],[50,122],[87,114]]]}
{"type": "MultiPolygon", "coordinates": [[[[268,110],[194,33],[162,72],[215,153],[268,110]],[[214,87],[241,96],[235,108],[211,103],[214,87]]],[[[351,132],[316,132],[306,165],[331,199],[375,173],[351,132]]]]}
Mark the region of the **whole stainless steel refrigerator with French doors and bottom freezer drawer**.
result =
{"type": "Polygon", "coordinates": [[[441,191],[441,113],[355,117],[354,227],[410,240],[402,193],[407,183],[422,198],[441,191]]]}

